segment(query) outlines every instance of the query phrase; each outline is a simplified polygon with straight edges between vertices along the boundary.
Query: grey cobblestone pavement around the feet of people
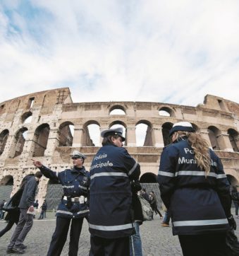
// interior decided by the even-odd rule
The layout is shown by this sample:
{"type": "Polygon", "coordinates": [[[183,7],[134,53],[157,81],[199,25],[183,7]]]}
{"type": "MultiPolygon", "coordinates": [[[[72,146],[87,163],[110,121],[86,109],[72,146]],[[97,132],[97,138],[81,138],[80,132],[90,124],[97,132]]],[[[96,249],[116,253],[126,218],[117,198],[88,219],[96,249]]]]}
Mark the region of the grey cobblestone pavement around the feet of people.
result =
{"type": "MultiPolygon", "coordinates": [[[[56,219],[54,214],[47,213],[47,219],[37,220],[35,219],[34,224],[30,233],[28,233],[25,239],[25,245],[27,249],[25,254],[27,256],[44,256],[47,255],[49,243],[51,241],[51,235],[54,232],[56,226],[56,219]]],[[[37,217],[36,217],[37,218],[37,217]]],[[[236,219],[238,229],[236,234],[239,238],[239,219],[236,219]]],[[[140,226],[140,233],[142,237],[142,248],[144,256],[181,256],[182,251],[178,242],[178,237],[172,235],[171,227],[165,228],[161,226],[161,219],[159,216],[154,216],[153,221],[145,221],[140,226]]],[[[0,230],[6,226],[5,221],[0,221],[0,230]]],[[[4,236],[0,238],[0,256],[6,254],[6,247],[11,238],[11,234],[14,231],[15,226],[8,231],[4,236]]],[[[69,237],[63,248],[61,256],[68,255],[68,243],[69,237]]],[[[87,256],[90,250],[90,233],[88,231],[87,221],[84,220],[82,226],[82,233],[80,235],[79,251],[78,255],[87,256]]],[[[16,255],[16,254],[13,254],[16,255]]]]}

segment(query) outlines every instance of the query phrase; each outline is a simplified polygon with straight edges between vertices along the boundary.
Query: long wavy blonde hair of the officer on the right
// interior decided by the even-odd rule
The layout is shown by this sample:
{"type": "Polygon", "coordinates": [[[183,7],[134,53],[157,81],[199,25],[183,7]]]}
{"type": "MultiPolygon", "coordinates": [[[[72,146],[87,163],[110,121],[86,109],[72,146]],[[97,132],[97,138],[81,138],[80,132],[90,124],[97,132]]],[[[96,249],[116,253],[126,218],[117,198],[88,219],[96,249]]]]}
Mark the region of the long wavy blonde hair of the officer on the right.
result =
{"type": "Polygon", "coordinates": [[[176,138],[178,136],[187,136],[188,142],[192,147],[195,153],[195,160],[197,161],[197,166],[205,171],[205,177],[210,172],[210,165],[211,165],[211,157],[209,154],[209,145],[206,139],[202,138],[202,135],[198,132],[183,132],[178,131],[176,132],[176,138]]]}

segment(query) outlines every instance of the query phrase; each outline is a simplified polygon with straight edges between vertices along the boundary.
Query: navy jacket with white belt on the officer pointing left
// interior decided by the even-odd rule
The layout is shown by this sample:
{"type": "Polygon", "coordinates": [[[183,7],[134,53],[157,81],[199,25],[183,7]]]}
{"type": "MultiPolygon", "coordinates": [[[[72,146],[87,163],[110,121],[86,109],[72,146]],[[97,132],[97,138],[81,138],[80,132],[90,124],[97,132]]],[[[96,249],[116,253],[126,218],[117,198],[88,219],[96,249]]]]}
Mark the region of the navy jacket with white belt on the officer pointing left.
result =
{"type": "Polygon", "coordinates": [[[63,187],[64,194],[56,211],[56,216],[76,219],[89,214],[86,198],[90,187],[90,173],[85,170],[85,167],[74,167],[59,173],[50,170],[44,165],[39,169],[44,176],[60,182],[63,187]]]}

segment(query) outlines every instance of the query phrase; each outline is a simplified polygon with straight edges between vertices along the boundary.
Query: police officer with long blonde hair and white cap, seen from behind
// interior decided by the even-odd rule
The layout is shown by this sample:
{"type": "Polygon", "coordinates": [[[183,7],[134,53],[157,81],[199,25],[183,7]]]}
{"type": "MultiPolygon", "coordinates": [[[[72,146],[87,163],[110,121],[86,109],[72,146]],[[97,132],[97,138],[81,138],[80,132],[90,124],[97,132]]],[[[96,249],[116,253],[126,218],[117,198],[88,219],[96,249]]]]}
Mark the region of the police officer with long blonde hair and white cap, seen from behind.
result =
{"type": "Polygon", "coordinates": [[[173,124],[161,153],[158,182],[184,256],[226,255],[226,231],[236,228],[223,165],[190,122],[173,124]],[[229,223],[229,225],[228,225],[229,223]]]}

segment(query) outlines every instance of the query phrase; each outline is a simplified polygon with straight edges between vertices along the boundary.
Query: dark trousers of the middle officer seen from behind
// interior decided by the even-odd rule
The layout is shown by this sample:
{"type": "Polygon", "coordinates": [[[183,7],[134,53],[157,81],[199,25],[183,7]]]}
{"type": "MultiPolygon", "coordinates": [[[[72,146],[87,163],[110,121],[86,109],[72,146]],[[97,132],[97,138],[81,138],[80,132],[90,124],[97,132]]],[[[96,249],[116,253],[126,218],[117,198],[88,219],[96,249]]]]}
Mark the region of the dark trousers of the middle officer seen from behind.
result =
{"type": "Polygon", "coordinates": [[[89,256],[130,256],[130,237],[110,239],[91,235],[89,256]]]}

